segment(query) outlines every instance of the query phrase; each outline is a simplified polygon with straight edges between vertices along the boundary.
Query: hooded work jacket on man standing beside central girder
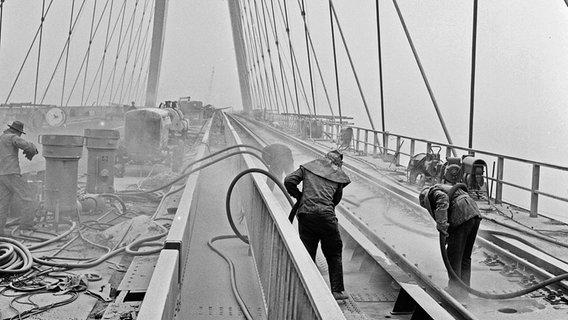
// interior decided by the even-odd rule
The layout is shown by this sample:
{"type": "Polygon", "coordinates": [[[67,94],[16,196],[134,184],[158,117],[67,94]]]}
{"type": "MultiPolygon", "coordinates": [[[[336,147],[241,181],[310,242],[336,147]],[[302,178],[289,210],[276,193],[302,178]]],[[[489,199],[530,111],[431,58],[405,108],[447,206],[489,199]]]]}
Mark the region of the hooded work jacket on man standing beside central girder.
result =
{"type": "Polygon", "coordinates": [[[335,215],[335,206],[341,201],[343,188],[351,181],[339,167],[333,167],[329,160],[318,159],[308,162],[284,179],[286,191],[300,201],[297,215],[335,215]],[[302,191],[298,184],[302,182],[302,191]]]}

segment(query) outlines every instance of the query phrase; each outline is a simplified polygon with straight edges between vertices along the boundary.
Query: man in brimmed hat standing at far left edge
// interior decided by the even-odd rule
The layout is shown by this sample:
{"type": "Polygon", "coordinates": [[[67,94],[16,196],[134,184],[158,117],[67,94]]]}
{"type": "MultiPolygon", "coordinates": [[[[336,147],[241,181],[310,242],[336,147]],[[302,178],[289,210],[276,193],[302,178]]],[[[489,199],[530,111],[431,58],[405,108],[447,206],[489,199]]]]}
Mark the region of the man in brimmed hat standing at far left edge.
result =
{"type": "Polygon", "coordinates": [[[36,146],[21,138],[25,134],[24,124],[14,121],[0,135],[0,235],[10,212],[14,197],[20,201],[20,229],[31,229],[34,226],[34,206],[30,187],[21,176],[18,149],[24,151],[28,160],[38,153],[36,146]]]}

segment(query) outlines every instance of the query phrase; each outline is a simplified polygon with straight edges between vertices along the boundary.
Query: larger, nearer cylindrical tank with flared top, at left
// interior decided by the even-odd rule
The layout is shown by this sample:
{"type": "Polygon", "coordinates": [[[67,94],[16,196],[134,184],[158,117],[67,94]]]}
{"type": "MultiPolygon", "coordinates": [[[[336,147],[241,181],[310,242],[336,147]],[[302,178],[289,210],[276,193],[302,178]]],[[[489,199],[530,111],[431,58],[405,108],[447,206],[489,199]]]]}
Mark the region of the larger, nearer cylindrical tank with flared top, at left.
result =
{"type": "Polygon", "coordinates": [[[40,136],[45,158],[45,208],[71,216],[77,211],[77,171],[83,153],[83,137],[40,136]]]}

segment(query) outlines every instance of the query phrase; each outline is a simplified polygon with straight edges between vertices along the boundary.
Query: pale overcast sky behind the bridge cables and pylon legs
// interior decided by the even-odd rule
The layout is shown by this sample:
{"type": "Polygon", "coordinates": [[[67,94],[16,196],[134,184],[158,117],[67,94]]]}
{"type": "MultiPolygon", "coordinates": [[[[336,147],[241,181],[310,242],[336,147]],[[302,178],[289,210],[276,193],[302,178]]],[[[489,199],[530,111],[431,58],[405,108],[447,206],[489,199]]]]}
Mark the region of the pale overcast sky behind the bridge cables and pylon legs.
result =
{"type": "MultiPolygon", "coordinates": [[[[40,76],[40,94],[65,43],[71,2],[56,1],[46,20],[41,66],[49,72],[40,76]],[[47,58],[48,54],[51,58],[47,58]]],[[[120,3],[114,2],[115,6],[120,3]]],[[[140,7],[144,2],[139,1],[140,7]]],[[[299,67],[309,90],[305,39],[297,2],[288,1],[288,10],[299,67]]],[[[327,1],[305,2],[323,76],[333,108],[337,108],[327,1]]],[[[75,3],[78,5],[81,1],[75,3]]],[[[103,3],[97,1],[97,10],[101,10],[103,3]]],[[[128,3],[132,5],[133,1],[128,3]]],[[[454,143],[459,145],[467,145],[468,136],[471,3],[470,0],[399,1],[436,100],[454,143]]],[[[92,4],[87,1],[85,12],[92,10],[92,4]]],[[[335,1],[335,5],[373,122],[377,129],[382,129],[375,1],[358,0],[355,5],[354,1],[343,0],[335,1]]],[[[0,48],[2,102],[37,30],[40,14],[39,0],[4,3],[0,48]]],[[[71,47],[70,61],[79,58],[79,62],[69,64],[69,74],[76,72],[83,57],[84,50],[79,43],[84,45],[88,41],[90,16],[87,14],[84,19],[87,23],[78,27],[71,47]]],[[[392,1],[381,1],[381,19],[386,130],[445,140],[392,1]]],[[[277,21],[280,36],[284,37],[281,18],[277,21]]],[[[568,8],[565,2],[479,1],[478,28],[474,147],[564,163],[568,156],[564,147],[564,141],[568,140],[568,8]]],[[[357,124],[370,127],[337,29],[336,39],[343,114],[355,116],[357,124]]],[[[12,102],[33,100],[37,47],[29,59],[10,98],[12,102]]],[[[96,63],[91,62],[90,73],[94,72],[94,65],[96,63]]],[[[314,79],[316,77],[314,69],[314,79]]],[[[47,103],[59,104],[61,81],[60,72],[52,84],[56,89],[50,89],[46,95],[47,103]]],[[[322,85],[319,80],[314,82],[319,113],[329,114],[322,85]]],[[[75,90],[80,91],[79,87],[75,90]]],[[[182,96],[219,107],[241,107],[226,0],[169,1],[158,100],[182,96]]]]}

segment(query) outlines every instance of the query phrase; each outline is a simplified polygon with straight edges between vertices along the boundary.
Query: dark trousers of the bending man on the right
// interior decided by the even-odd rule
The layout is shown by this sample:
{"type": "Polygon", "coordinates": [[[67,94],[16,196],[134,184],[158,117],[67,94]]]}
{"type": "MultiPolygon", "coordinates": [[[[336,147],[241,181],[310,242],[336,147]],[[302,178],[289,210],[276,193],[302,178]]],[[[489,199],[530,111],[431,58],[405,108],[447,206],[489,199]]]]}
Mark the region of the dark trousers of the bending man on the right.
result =
{"type": "MultiPolygon", "coordinates": [[[[457,227],[448,230],[448,259],[456,275],[469,286],[471,280],[471,253],[477,237],[481,218],[474,217],[457,227]]],[[[450,290],[461,288],[457,280],[449,274],[448,287],[450,290]]]]}

